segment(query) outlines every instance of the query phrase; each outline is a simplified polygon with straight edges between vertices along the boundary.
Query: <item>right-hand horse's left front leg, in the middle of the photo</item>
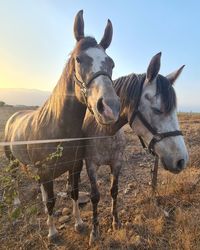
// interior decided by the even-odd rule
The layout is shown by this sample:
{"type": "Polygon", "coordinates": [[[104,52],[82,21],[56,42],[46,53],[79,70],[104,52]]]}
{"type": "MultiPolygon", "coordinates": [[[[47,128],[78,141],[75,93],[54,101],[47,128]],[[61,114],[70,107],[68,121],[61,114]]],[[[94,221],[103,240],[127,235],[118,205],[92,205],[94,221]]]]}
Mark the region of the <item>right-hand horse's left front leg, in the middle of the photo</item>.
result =
{"type": "Polygon", "coordinates": [[[100,200],[100,193],[97,185],[96,165],[92,162],[86,161],[86,167],[91,184],[91,202],[93,209],[92,231],[89,240],[89,245],[91,246],[99,237],[98,203],[100,200]]]}

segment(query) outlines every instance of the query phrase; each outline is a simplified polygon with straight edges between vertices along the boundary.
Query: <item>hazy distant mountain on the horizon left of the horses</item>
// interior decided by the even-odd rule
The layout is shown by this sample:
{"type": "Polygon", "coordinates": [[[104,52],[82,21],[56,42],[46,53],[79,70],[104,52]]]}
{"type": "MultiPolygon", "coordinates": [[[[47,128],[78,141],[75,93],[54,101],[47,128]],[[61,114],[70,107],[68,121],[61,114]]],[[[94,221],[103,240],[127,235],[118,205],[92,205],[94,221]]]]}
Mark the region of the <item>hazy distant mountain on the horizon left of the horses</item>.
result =
{"type": "Polygon", "coordinates": [[[0,101],[10,105],[41,106],[49,96],[49,91],[37,89],[0,88],[0,101]]]}

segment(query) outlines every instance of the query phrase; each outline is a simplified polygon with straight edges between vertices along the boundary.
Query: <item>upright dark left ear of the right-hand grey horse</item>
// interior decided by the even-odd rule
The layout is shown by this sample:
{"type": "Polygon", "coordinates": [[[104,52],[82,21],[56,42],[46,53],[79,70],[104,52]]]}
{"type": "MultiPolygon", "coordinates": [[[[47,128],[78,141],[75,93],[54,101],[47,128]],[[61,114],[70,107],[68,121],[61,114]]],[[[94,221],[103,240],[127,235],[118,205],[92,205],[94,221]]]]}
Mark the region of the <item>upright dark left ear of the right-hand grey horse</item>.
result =
{"type": "Polygon", "coordinates": [[[146,80],[148,82],[152,82],[158,75],[158,72],[160,70],[160,58],[161,58],[161,52],[156,54],[150,61],[149,66],[147,68],[147,76],[146,76],[146,80]]]}

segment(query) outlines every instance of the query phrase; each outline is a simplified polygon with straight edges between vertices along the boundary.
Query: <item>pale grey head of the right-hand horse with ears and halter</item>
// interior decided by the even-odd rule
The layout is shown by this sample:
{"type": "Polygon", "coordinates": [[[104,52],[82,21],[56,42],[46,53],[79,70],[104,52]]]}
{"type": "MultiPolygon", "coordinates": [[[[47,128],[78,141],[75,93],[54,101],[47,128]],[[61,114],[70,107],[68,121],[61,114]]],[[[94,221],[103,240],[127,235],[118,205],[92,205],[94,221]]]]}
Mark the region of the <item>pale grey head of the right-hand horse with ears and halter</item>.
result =
{"type": "Polygon", "coordinates": [[[148,66],[139,112],[132,126],[149,149],[159,156],[163,167],[179,173],[186,167],[188,152],[179,131],[173,84],[184,66],[164,77],[158,74],[160,57],[161,53],[155,55],[148,66]]]}

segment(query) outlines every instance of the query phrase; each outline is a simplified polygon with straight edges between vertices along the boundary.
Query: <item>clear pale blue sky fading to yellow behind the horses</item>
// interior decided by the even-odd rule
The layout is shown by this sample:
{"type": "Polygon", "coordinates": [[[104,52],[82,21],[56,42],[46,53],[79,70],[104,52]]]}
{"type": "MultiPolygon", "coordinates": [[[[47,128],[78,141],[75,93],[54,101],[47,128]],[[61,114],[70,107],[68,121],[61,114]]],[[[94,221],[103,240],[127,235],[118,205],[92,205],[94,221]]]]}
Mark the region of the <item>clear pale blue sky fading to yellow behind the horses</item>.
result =
{"type": "Polygon", "coordinates": [[[0,88],[52,91],[75,46],[73,23],[100,41],[109,18],[113,78],[146,72],[162,52],[160,73],[186,65],[175,84],[181,110],[200,111],[200,1],[0,0],[0,88]]]}

